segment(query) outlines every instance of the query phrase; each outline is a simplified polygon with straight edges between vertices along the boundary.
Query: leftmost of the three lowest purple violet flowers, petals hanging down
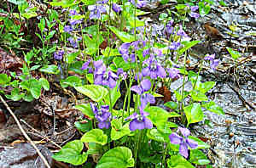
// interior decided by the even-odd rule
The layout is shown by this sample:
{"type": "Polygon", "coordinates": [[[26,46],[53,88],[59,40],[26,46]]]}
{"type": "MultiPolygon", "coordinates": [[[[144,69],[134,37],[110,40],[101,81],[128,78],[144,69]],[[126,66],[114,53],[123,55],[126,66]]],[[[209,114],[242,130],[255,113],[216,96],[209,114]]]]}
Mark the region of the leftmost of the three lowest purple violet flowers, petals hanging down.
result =
{"type": "Polygon", "coordinates": [[[90,109],[95,114],[96,120],[98,120],[98,127],[102,128],[109,128],[110,127],[110,120],[111,120],[111,113],[109,112],[108,105],[102,105],[101,109],[97,109],[96,105],[90,103],[90,109]]]}

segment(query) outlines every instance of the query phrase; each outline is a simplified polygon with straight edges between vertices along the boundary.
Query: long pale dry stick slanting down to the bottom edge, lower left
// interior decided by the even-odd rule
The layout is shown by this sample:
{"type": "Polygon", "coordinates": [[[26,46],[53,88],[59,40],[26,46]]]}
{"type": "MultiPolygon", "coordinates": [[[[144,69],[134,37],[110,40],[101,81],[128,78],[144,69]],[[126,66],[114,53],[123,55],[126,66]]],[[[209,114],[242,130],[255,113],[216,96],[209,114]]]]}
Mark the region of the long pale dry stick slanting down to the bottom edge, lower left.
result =
{"type": "Polygon", "coordinates": [[[40,156],[40,158],[43,160],[44,165],[46,165],[46,167],[50,168],[49,163],[47,162],[47,160],[44,158],[44,155],[39,151],[39,149],[37,148],[36,144],[34,142],[32,142],[32,139],[30,137],[28,137],[28,135],[26,134],[26,132],[24,131],[23,127],[20,125],[20,121],[17,119],[16,115],[13,113],[13,111],[9,108],[9,105],[6,104],[6,102],[3,100],[2,96],[0,95],[0,99],[3,102],[3,104],[5,105],[6,109],[9,110],[9,113],[14,117],[17,125],[20,128],[20,131],[23,133],[24,137],[26,137],[26,139],[28,140],[29,143],[32,144],[33,148],[36,149],[38,155],[40,156]]]}

